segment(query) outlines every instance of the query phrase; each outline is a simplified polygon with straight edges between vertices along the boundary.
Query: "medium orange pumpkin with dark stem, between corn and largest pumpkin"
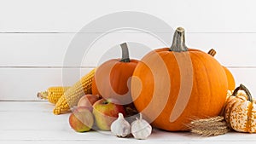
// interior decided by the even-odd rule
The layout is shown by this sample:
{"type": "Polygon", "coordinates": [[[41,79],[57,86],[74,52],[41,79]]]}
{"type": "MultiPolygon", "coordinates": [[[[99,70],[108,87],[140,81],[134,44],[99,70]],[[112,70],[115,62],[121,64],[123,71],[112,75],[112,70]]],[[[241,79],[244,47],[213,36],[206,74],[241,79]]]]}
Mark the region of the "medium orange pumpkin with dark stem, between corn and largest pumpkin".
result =
{"type": "Polygon", "coordinates": [[[96,68],[92,81],[92,94],[102,95],[103,98],[114,98],[120,104],[129,104],[131,100],[130,80],[137,60],[131,60],[126,43],[120,44],[122,58],[104,62],[96,68]]]}

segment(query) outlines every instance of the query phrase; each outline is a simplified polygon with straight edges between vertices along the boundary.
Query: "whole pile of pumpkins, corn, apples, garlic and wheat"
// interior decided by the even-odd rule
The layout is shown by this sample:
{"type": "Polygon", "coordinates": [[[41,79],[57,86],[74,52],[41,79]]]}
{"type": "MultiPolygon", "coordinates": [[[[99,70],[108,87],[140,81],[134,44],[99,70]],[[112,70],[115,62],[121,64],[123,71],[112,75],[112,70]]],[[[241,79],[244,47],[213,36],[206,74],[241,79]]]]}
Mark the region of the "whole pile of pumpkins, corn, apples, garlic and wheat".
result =
{"type": "Polygon", "coordinates": [[[51,87],[38,97],[55,104],[58,115],[71,112],[78,132],[111,130],[118,137],[146,139],[152,127],[223,135],[230,130],[256,132],[255,100],[227,67],[185,44],[178,27],[170,48],[154,49],[131,60],[127,43],[121,59],[91,70],[71,87],[51,87]]]}

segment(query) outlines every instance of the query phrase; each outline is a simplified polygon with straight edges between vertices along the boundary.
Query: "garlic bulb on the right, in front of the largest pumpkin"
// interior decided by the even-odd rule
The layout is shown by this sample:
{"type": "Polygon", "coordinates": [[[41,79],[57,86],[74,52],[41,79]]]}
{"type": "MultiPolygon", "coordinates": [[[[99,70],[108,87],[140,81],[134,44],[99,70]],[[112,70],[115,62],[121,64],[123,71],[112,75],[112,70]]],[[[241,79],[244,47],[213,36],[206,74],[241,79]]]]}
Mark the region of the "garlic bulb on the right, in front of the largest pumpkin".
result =
{"type": "Polygon", "coordinates": [[[146,120],[143,119],[142,113],[140,118],[131,123],[131,134],[136,139],[146,139],[152,131],[152,127],[146,120]]]}

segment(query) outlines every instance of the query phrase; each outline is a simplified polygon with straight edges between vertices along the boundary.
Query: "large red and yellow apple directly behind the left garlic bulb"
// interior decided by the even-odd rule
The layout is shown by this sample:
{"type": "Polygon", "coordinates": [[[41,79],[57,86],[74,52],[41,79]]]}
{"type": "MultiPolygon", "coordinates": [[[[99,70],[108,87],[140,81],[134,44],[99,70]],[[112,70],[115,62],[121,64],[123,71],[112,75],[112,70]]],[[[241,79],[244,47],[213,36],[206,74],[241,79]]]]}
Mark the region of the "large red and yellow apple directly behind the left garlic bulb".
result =
{"type": "Polygon", "coordinates": [[[113,99],[102,99],[94,103],[92,113],[100,130],[110,130],[110,126],[118,118],[119,112],[125,116],[125,108],[118,103],[113,99]]]}

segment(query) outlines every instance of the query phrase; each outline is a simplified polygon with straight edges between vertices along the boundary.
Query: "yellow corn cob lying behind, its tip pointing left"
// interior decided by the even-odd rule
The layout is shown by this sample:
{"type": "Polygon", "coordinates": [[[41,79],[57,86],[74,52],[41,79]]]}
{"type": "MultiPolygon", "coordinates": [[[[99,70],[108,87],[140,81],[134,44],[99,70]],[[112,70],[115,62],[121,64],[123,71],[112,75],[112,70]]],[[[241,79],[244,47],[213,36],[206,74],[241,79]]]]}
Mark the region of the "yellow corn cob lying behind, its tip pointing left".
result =
{"type": "Polygon", "coordinates": [[[46,91],[39,92],[38,98],[48,100],[50,103],[56,104],[61,95],[63,95],[68,88],[69,87],[61,86],[49,87],[46,91]]]}

